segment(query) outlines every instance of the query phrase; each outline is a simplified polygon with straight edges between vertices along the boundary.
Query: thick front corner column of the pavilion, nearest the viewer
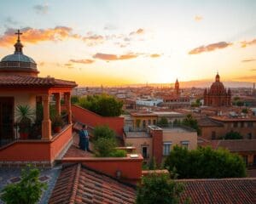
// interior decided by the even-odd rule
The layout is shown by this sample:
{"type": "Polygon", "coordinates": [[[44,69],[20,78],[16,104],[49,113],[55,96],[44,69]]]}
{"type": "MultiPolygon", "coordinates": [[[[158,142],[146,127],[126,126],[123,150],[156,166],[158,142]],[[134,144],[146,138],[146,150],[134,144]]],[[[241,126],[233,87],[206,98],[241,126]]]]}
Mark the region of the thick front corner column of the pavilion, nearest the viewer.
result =
{"type": "Polygon", "coordinates": [[[49,95],[43,95],[44,118],[42,122],[42,139],[51,139],[51,122],[49,120],[49,95]]]}

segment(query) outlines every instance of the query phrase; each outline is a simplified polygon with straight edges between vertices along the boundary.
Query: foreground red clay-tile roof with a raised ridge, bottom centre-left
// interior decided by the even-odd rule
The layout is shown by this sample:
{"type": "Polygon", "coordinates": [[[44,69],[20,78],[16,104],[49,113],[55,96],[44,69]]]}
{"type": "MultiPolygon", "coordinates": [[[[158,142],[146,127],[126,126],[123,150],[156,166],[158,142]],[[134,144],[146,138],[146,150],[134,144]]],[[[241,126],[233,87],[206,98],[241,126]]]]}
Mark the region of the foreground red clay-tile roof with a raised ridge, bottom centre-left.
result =
{"type": "Polygon", "coordinates": [[[135,189],[81,164],[63,167],[49,203],[134,203],[135,189]]]}

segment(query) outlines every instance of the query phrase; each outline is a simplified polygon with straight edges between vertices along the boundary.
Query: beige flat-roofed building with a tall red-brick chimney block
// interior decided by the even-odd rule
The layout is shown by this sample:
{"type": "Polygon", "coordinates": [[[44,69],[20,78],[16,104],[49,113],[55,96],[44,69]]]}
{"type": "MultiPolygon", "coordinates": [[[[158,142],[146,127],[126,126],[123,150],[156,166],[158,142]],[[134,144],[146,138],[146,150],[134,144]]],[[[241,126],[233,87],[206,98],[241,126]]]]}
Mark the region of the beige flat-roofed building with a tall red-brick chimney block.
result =
{"type": "Polygon", "coordinates": [[[170,154],[174,145],[182,145],[189,150],[197,147],[197,133],[189,127],[148,126],[147,131],[125,132],[125,144],[132,144],[145,161],[155,158],[158,164],[170,154]]]}

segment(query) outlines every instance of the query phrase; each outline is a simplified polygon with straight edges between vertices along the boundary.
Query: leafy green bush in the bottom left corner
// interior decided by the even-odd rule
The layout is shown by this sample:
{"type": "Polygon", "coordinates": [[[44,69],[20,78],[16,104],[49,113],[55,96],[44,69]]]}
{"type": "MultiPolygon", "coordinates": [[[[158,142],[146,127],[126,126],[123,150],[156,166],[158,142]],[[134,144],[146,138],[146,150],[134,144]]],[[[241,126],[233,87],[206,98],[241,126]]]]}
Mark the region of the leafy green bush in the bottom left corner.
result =
{"type": "Polygon", "coordinates": [[[7,204],[38,203],[47,185],[38,180],[39,170],[27,167],[21,170],[21,180],[18,184],[8,184],[2,190],[1,199],[7,204]]]}

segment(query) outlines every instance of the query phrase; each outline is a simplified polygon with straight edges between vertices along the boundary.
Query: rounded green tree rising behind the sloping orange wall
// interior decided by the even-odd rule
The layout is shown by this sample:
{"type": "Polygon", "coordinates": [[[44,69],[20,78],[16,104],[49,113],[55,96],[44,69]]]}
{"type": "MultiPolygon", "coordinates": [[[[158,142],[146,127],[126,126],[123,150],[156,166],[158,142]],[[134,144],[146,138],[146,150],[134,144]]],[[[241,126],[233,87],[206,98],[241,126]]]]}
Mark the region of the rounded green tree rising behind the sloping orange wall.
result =
{"type": "Polygon", "coordinates": [[[101,94],[80,98],[78,105],[101,116],[120,116],[123,102],[113,96],[101,94]]]}

